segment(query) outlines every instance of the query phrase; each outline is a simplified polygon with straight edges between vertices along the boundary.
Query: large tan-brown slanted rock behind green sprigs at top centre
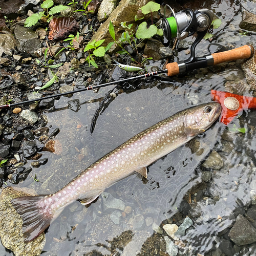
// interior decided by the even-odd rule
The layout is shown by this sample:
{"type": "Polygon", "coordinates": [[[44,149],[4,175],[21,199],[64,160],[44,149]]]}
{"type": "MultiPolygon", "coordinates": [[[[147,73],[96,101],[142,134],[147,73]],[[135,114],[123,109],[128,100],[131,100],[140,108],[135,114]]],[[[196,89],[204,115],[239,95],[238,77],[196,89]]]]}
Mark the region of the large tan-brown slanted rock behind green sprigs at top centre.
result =
{"type": "MultiPolygon", "coordinates": [[[[112,21],[115,28],[115,37],[118,40],[121,37],[124,29],[120,26],[121,22],[125,20],[134,20],[134,16],[137,14],[137,11],[143,5],[146,5],[150,0],[121,0],[117,8],[111,13],[110,17],[100,26],[98,31],[93,35],[91,41],[105,39],[102,46],[106,46],[109,42],[113,41],[109,33],[110,20],[112,21]]],[[[129,23],[130,24],[130,23],[129,23]]],[[[134,26],[132,29],[135,29],[137,22],[133,22],[134,26]]]]}

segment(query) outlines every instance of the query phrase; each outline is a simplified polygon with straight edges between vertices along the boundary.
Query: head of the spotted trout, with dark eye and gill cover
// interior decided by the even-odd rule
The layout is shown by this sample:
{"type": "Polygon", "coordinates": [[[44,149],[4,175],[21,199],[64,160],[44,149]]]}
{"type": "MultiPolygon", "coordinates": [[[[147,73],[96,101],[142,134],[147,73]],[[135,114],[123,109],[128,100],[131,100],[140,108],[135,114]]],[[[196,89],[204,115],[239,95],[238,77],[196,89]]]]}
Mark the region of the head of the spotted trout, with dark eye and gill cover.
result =
{"type": "Polygon", "coordinates": [[[184,125],[191,131],[190,136],[195,136],[207,130],[218,119],[222,108],[220,103],[210,102],[189,110],[184,125]]]}

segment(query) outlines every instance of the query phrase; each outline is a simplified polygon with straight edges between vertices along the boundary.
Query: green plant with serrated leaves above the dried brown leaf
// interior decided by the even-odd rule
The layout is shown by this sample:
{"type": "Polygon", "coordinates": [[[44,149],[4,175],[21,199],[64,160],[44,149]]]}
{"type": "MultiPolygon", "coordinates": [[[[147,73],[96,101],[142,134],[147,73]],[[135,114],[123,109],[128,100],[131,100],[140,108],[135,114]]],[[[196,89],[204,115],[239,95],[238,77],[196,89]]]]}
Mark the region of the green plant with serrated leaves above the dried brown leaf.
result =
{"type": "Polygon", "coordinates": [[[41,17],[45,17],[47,19],[47,22],[49,22],[52,19],[52,15],[69,8],[68,6],[63,6],[63,5],[52,7],[53,4],[54,3],[52,0],[46,0],[45,2],[43,2],[41,4],[41,8],[46,9],[46,12],[42,11],[42,12],[34,13],[30,17],[27,17],[25,20],[24,27],[34,26],[41,17]],[[51,9],[49,10],[49,8],[51,9]]]}

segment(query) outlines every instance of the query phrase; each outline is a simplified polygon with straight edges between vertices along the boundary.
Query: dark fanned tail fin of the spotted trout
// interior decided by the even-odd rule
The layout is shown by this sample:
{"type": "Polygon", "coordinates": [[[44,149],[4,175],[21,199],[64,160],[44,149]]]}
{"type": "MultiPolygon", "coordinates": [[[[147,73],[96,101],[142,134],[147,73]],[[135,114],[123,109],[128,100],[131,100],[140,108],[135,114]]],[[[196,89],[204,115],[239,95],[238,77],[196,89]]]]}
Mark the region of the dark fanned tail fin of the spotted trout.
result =
{"type": "Polygon", "coordinates": [[[22,217],[24,242],[34,240],[50,226],[53,215],[45,209],[44,196],[19,197],[11,204],[22,217]]]}

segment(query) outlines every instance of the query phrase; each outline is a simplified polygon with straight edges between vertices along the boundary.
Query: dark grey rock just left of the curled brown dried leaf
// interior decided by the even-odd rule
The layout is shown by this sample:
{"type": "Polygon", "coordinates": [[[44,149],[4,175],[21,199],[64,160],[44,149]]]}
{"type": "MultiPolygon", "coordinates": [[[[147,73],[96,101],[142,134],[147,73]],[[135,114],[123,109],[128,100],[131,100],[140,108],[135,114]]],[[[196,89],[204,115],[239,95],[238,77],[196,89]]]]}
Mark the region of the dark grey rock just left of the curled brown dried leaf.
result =
{"type": "Polygon", "coordinates": [[[37,33],[31,29],[17,26],[14,29],[14,34],[20,52],[29,52],[34,55],[38,48],[41,47],[37,33]]]}

